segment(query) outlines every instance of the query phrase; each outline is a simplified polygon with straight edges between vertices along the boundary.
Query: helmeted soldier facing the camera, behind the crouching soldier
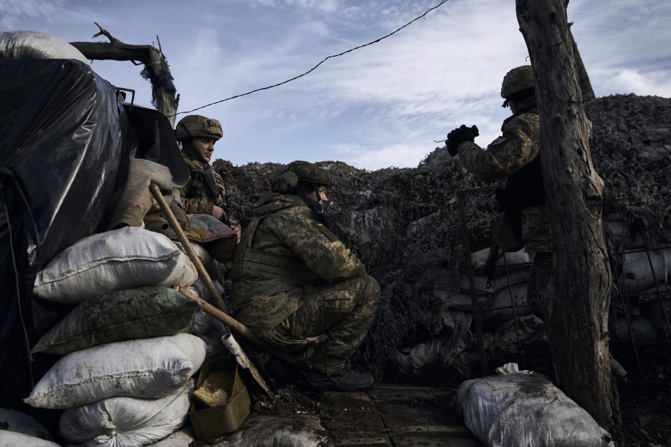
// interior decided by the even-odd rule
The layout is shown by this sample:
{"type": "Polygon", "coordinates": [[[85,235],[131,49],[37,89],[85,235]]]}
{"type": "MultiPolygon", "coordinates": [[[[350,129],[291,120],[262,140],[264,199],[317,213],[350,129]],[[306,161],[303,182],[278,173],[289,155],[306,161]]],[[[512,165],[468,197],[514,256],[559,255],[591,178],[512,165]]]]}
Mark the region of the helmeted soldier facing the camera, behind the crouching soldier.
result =
{"type": "Polygon", "coordinates": [[[175,128],[175,137],[182,143],[182,156],[190,177],[180,189],[187,214],[210,214],[230,226],[238,234],[240,224],[226,214],[224,180],[210,166],[215,142],[222,138],[222,125],[216,119],[187,115],[175,128]]]}

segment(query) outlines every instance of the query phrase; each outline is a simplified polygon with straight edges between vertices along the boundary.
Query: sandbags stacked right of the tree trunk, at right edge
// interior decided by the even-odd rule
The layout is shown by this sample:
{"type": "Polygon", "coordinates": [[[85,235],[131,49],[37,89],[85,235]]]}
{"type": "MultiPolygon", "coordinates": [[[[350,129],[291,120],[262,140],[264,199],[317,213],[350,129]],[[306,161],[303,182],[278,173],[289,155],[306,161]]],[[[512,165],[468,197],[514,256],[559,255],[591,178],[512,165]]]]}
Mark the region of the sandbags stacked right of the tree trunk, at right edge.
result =
{"type": "Polygon", "coordinates": [[[654,232],[627,219],[623,213],[605,214],[604,223],[607,241],[616,254],[612,266],[614,290],[623,295],[630,313],[628,323],[621,299],[617,297],[615,304],[620,311],[616,320],[618,339],[629,339],[629,325],[638,343],[664,339],[663,334],[669,330],[666,317],[671,318],[671,247],[663,248],[669,244],[654,232]]]}

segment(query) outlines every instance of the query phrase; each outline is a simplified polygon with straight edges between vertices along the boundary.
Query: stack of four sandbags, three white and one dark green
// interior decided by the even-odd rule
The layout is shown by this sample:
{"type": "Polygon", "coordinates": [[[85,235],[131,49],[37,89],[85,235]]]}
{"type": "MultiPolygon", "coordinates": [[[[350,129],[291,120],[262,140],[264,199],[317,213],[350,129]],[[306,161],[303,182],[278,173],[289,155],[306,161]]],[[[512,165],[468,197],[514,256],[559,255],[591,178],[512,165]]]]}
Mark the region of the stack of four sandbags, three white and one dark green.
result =
{"type": "Polygon", "coordinates": [[[76,304],[33,352],[64,355],[25,399],[66,409],[59,428],[85,446],[144,446],[179,430],[205,344],[198,305],[171,288],[196,281],[166,236],[138,227],[86,237],[38,273],[34,294],[76,304]]]}

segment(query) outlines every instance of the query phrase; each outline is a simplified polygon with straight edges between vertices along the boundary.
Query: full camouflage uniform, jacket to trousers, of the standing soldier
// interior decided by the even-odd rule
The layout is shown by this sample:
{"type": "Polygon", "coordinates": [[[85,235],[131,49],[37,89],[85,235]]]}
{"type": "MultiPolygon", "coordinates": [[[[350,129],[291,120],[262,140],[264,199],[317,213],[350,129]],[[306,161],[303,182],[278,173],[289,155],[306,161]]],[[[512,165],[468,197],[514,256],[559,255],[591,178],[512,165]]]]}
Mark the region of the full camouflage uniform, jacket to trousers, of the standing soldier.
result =
{"type": "MultiPolygon", "coordinates": [[[[482,149],[462,142],[459,159],[475,179],[496,182],[506,179],[505,191],[521,209],[521,236],[525,249],[534,254],[528,301],[537,307],[538,293],[551,274],[552,232],[540,166],[540,123],[533,98],[508,117],[502,135],[482,149]]],[[[540,312],[537,309],[536,313],[540,312]]]]}

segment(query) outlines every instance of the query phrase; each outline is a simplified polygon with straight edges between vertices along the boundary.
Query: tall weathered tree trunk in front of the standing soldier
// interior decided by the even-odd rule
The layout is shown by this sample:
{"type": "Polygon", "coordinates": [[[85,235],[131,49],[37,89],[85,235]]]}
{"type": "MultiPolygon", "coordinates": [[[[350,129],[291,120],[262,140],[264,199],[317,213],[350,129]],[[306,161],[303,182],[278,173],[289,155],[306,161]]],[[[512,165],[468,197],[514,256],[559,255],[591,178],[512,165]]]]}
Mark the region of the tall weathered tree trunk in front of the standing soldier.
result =
{"type": "MultiPolygon", "coordinates": [[[[566,0],[516,0],[533,66],[540,114],[541,162],[552,216],[554,279],[547,333],[562,388],[616,439],[617,390],[610,369],[608,310],[612,277],[603,236],[603,180],[589,152],[579,68],[566,0]]],[[[584,81],[584,80],[583,80],[584,81]]]]}

